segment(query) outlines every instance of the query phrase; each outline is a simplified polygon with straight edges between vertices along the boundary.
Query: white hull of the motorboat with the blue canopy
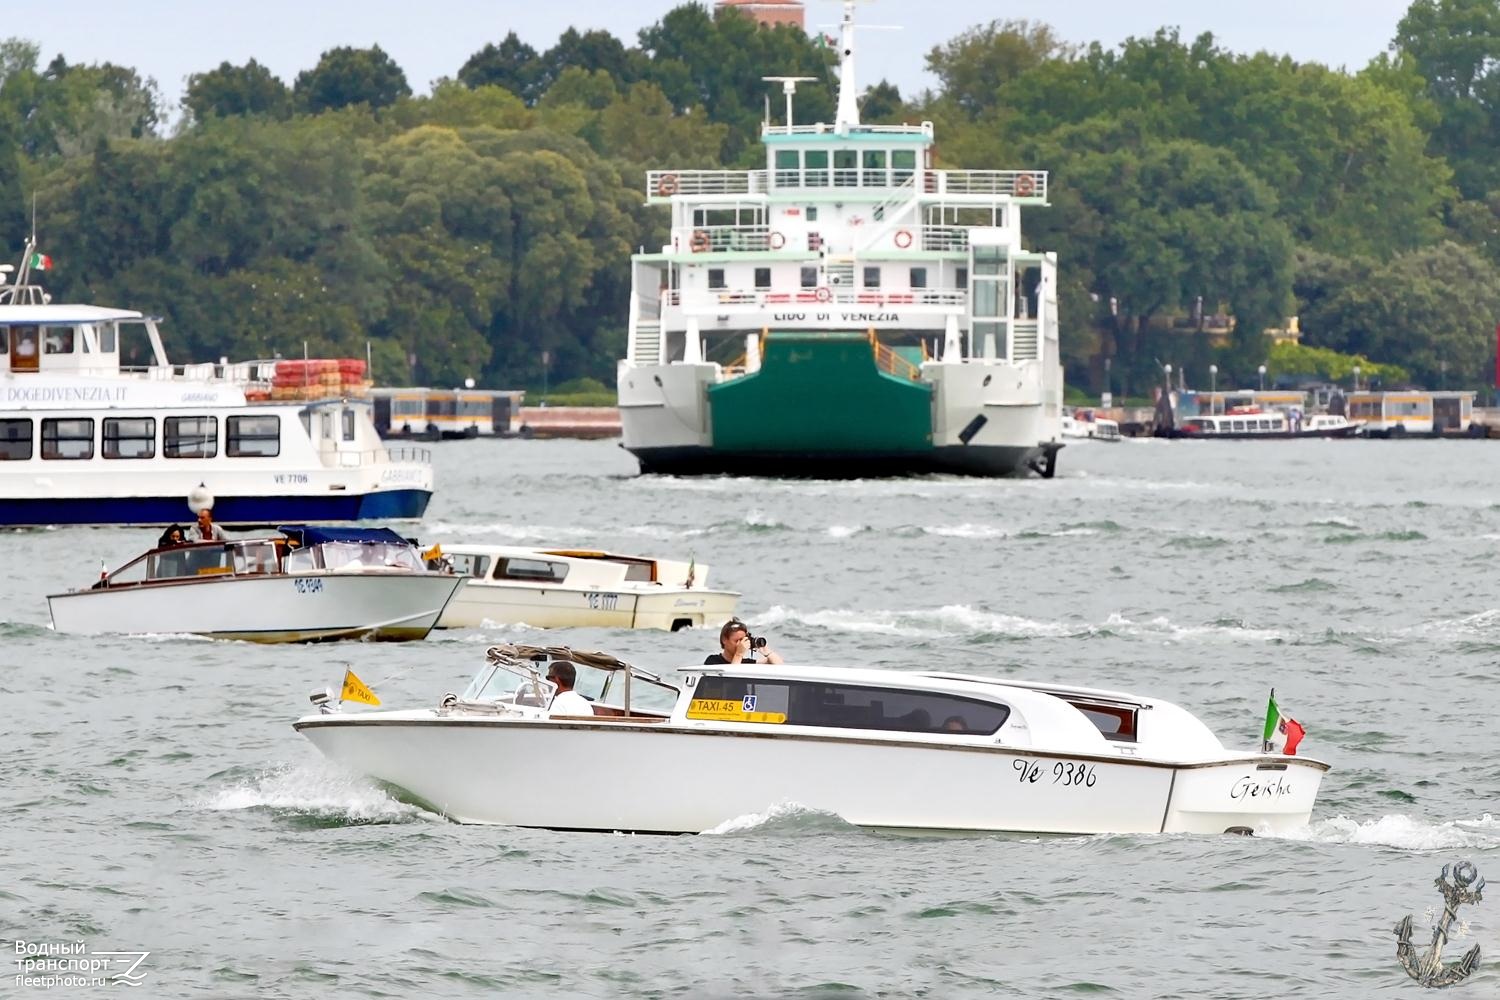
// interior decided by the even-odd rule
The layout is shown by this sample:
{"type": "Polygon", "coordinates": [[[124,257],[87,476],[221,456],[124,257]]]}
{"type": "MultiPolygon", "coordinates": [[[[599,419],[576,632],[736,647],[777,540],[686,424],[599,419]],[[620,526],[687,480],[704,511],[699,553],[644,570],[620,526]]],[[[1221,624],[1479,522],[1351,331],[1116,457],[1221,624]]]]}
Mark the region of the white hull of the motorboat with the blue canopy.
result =
{"type": "Polygon", "coordinates": [[[189,633],[285,643],[423,639],[462,583],[410,573],[186,577],[46,598],[60,633],[189,633]]]}

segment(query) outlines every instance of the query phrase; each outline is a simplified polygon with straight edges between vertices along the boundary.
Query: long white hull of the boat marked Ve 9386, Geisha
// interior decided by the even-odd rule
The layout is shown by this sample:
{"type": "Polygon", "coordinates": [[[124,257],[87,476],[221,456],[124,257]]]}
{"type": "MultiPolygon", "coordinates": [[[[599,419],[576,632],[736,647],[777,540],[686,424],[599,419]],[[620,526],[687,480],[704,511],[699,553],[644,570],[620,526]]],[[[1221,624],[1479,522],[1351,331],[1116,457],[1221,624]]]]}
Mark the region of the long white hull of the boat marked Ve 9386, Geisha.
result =
{"type": "Polygon", "coordinates": [[[735,735],[640,718],[381,712],[314,715],[296,729],[327,757],[462,823],[651,834],[711,831],[786,804],[896,829],[1282,832],[1306,825],[1328,769],[1300,757],[1126,762],[914,739],[735,735]],[[568,780],[536,781],[537,760],[568,780]]]}

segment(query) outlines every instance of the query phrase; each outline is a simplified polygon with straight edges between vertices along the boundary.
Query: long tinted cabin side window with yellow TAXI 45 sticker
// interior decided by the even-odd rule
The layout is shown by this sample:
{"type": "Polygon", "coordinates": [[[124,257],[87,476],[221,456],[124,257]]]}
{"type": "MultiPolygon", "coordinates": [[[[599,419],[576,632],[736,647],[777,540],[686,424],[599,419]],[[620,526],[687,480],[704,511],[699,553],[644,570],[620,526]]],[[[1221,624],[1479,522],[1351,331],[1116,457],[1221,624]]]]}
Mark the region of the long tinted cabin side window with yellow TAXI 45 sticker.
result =
{"type": "Polygon", "coordinates": [[[716,675],[699,679],[687,709],[688,718],[969,736],[993,735],[1010,714],[1006,705],[936,691],[716,675]]]}

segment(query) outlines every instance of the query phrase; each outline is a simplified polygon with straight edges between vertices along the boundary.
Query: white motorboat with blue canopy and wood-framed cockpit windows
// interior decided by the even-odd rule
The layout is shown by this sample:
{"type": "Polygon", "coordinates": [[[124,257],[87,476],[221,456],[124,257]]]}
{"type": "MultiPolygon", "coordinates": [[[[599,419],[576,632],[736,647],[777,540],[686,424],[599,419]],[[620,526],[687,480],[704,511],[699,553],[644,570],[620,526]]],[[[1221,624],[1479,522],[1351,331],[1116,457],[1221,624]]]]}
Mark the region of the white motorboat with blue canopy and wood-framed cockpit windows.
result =
{"type": "Polygon", "coordinates": [[[300,526],[152,549],[46,604],[60,633],[402,642],[432,631],[462,583],[388,528],[300,526]]]}

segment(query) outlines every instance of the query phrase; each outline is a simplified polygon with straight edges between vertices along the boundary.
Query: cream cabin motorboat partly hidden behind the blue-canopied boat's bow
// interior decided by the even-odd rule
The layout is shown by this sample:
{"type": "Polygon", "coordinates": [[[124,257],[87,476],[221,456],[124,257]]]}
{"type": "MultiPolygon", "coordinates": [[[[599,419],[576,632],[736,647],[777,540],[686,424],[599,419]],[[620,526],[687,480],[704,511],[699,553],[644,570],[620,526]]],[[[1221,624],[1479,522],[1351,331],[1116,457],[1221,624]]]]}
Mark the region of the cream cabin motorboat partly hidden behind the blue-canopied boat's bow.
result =
{"type": "Polygon", "coordinates": [[[740,594],[708,589],[708,567],[572,549],[440,543],[464,577],[438,628],[700,628],[735,613],[740,594]]]}

